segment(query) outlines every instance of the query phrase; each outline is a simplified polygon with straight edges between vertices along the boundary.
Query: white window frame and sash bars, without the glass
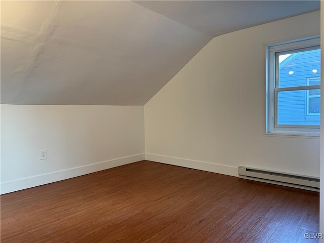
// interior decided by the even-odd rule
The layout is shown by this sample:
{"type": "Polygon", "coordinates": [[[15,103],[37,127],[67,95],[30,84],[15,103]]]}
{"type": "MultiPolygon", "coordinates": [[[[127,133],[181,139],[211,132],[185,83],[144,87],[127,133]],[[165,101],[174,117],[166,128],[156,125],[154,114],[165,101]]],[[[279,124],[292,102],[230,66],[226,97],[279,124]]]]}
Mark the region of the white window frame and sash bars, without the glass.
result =
{"type": "MultiPolygon", "coordinates": [[[[267,46],[267,83],[266,83],[266,133],[301,136],[319,135],[320,126],[314,125],[279,125],[278,124],[278,92],[320,89],[320,85],[295,86],[278,88],[278,64],[279,54],[296,53],[300,51],[320,48],[318,36],[297,39],[285,43],[277,43],[267,46]]],[[[306,104],[307,105],[307,104],[306,104]]]]}

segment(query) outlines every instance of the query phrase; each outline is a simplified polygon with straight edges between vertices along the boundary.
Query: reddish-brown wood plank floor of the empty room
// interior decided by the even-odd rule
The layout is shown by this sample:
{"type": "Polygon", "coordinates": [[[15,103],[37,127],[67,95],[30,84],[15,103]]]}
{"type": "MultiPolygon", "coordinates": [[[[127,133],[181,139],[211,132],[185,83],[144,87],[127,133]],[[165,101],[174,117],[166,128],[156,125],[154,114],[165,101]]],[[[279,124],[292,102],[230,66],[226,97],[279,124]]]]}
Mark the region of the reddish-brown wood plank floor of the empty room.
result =
{"type": "Polygon", "coordinates": [[[317,192],[141,161],[1,196],[1,242],[317,242],[317,192]]]}

